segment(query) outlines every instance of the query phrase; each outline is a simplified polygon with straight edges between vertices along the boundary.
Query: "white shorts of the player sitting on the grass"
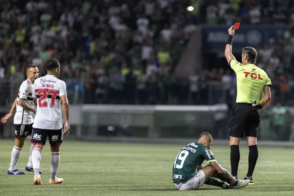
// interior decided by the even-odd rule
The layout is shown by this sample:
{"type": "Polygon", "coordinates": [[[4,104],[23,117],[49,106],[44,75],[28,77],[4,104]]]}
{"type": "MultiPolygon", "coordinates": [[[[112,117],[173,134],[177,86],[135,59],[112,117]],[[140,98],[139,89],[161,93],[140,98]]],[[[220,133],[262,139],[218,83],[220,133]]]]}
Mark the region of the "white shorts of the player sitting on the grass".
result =
{"type": "Polygon", "coordinates": [[[192,178],[186,182],[175,182],[178,190],[195,190],[202,187],[205,181],[205,174],[202,170],[198,170],[192,178]]]}

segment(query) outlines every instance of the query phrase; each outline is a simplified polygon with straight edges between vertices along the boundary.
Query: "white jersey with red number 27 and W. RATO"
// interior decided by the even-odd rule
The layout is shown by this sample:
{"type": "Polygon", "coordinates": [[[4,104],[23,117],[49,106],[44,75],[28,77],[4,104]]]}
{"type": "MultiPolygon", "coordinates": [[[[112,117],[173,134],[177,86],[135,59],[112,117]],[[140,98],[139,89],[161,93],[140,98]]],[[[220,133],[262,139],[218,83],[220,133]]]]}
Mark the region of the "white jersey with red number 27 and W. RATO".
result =
{"type": "Polygon", "coordinates": [[[46,75],[34,82],[33,97],[37,98],[37,113],[33,128],[44,130],[62,129],[60,96],[66,95],[66,85],[55,76],[46,75]]]}

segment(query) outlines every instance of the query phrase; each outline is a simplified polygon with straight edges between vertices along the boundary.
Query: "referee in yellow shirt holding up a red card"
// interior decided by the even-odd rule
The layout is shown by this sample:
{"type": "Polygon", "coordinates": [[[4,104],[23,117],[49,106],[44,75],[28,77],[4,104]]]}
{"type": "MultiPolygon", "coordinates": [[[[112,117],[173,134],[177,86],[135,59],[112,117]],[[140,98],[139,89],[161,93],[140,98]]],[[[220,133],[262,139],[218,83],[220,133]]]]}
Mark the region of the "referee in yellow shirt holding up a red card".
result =
{"type": "Polygon", "coordinates": [[[231,173],[237,179],[240,161],[240,139],[247,138],[249,147],[248,173],[244,179],[254,184],[252,175],[258,159],[257,130],[260,122],[260,109],[270,100],[271,81],[262,69],[255,65],[257,52],[253,47],[242,48],[242,63],[232,54],[235,27],[228,29],[228,41],[225,46],[225,58],[237,77],[237,99],[229,121],[231,173]],[[260,100],[260,94],[263,98],[260,100]]]}

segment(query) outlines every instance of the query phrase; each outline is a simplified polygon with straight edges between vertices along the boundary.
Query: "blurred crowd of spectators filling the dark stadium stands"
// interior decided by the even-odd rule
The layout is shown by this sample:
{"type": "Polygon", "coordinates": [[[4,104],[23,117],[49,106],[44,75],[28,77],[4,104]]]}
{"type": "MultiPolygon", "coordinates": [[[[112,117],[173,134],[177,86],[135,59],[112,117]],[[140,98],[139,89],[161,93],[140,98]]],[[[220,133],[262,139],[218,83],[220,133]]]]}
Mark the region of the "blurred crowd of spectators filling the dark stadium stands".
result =
{"type": "Polygon", "coordinates": [[[32,63],[43,76],[44,63],[59,59],[72,103],[215,104],[223,97],[231,106],[231,70],[196,70],[187,77],[175,68],[198,25],[234,21],[288,25],[283,39],[257,48],[257,65],[272,79],[277,99],[294,98],[290,0],[0,2],[0,78],[21,80],[32,63]]]}

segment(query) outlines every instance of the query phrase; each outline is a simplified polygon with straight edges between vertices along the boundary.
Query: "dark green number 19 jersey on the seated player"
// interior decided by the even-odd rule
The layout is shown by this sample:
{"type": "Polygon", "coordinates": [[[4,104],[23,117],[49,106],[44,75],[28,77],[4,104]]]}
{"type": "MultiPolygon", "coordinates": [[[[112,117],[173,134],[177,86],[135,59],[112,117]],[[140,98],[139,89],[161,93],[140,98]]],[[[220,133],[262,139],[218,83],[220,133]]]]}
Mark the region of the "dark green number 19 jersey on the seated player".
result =
{"type": "Polygon", "coordinates": [[[173,182],[185,182],[196,174],[196,169],[206,160],[216,161],[208,148],[199,143],[190,143],[180,150],[173,164],[173,182]]]}

